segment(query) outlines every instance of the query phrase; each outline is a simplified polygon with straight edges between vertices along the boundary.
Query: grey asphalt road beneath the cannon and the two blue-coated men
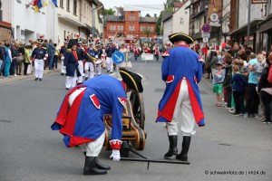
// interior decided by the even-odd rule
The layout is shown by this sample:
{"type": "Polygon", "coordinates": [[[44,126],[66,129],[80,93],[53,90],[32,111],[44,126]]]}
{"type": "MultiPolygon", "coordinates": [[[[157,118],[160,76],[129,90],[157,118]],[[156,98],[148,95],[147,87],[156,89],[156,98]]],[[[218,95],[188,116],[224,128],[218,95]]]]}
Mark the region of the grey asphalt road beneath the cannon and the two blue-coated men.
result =
{"type": "MultiPolygon", "coordinates": [[[[144,76],[145,131],[143,155],[162,159],[168,150],[166,130],[155,123],[165,84],[159,62],[132,62],[144,76]]],[[[112,169],[104,176],[83,176],[80,148],[65,148],[62,135],[50,129],[65,95],[59,73],[43,81],[23,80],[0,85],[0,180],[272,180],[272,126],[257,119],[232,117],[214,107],[210,81],[199,83],[206,127],[196,128],[189,149],[190,165],[112,162],[110,151],[100,159],[112,169]]],[[[181,148],[179,136],[179,151],[181,148]]],[[[131,154],[131,157],[137,157],[131,154]]]]}

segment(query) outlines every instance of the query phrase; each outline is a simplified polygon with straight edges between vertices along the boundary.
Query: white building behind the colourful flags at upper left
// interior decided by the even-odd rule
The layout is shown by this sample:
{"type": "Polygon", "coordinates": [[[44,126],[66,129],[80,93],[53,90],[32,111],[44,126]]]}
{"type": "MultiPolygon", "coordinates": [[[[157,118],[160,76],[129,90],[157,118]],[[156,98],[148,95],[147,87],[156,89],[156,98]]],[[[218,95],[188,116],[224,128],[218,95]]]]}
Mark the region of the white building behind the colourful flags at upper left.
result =
{"type": "Polygon", "coordinates": [[[28,43],[40,35],[56,41],[56,10],[53,5],[47,5],[35,13],[34,7],[28,6],[30,0],[12,0],[9,3],[12,5],[12,27],[16,41],[28,43]]]}

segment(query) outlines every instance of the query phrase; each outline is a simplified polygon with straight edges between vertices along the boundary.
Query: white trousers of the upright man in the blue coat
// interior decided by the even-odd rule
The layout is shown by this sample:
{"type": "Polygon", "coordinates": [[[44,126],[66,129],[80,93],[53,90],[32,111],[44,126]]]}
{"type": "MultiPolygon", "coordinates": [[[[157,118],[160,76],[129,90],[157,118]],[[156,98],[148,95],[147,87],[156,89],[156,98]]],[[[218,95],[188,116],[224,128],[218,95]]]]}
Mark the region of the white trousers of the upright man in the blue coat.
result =
{"type": "Polygon", "coordinates": [[[189,100],[188,85],[185,78],[180,85],[180,93],[174,110],[173,119],[166,123],[168,135],[178,135],[178,124],[181,124],[180,130],[183,136],[192,136],[196,133],[194,130],[195,117],[189,100]]]}

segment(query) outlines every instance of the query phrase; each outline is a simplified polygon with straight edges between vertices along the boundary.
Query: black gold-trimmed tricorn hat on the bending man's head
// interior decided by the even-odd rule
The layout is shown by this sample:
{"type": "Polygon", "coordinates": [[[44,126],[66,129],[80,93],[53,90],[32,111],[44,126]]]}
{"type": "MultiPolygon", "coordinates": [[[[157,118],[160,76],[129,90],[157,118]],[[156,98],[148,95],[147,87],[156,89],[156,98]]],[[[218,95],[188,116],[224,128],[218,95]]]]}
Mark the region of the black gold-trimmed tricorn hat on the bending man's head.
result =
{"type": "Polygon", "coordinates": [[[124,81],[132,90],[137,92],[142,92],[141,85],[141,76],[137,73],[133,73],[131,71],[127,71],[125,69],[120,69],[121,79],[124,81]]]}

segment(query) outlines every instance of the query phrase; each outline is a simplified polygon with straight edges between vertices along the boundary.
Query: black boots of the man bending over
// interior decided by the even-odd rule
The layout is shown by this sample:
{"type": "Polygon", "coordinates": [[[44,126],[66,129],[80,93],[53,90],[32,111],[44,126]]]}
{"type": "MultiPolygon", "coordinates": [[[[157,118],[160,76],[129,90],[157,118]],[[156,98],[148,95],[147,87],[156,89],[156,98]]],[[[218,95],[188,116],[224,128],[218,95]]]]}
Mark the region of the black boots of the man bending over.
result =
{"type": "Polygon", "coordinates": [[[95,157],[86,157],[85,165],[83,169],[83,175],[105,175],[107,174],[106,170],[102,170],[96,167],[95,157]]]}

